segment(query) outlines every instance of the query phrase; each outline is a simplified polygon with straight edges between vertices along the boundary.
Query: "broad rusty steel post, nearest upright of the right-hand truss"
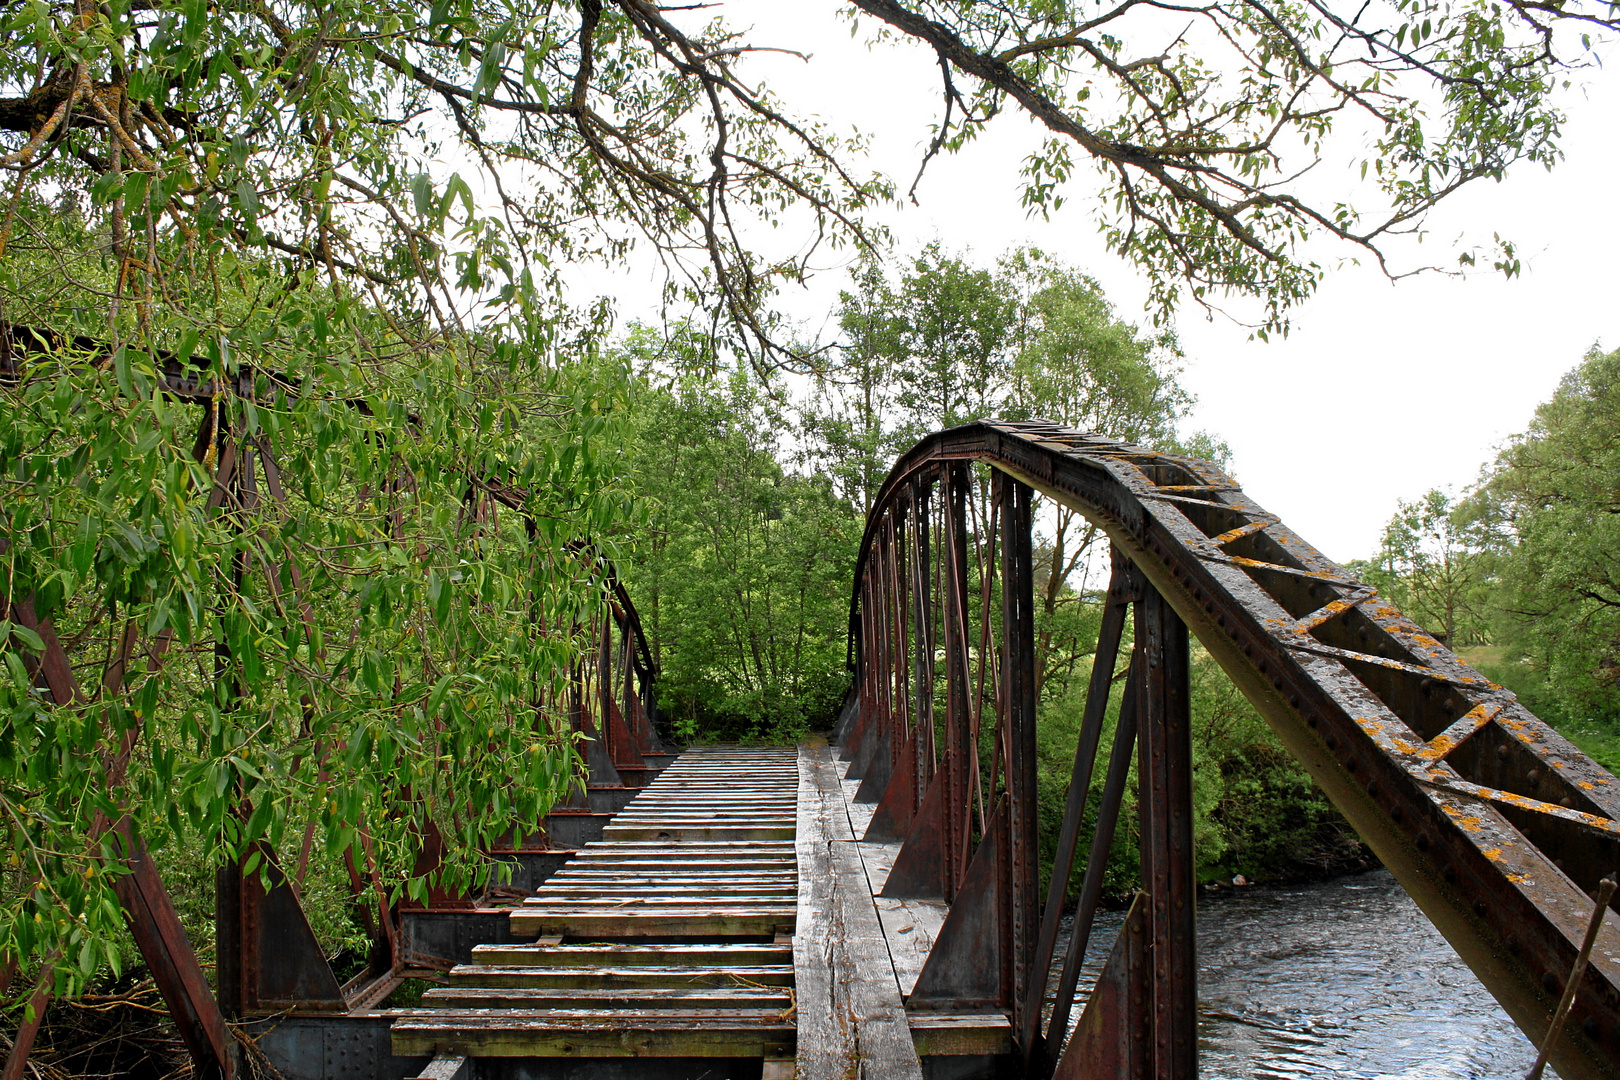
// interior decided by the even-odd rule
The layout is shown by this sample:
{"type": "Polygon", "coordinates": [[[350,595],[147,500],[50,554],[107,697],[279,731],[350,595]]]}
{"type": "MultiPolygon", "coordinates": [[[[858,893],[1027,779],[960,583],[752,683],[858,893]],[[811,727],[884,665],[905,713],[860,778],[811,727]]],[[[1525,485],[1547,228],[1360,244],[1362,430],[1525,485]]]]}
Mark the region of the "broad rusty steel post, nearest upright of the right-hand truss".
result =
{"type": "Polygon", "coordinates": [[[1187,627],[1144,583],[1136,604],[1142,659],[1142,887],[1149,918],[1153,1077],[1197,1075],[1197,939],[1192,863],[1192,724],[1187,627]]]}

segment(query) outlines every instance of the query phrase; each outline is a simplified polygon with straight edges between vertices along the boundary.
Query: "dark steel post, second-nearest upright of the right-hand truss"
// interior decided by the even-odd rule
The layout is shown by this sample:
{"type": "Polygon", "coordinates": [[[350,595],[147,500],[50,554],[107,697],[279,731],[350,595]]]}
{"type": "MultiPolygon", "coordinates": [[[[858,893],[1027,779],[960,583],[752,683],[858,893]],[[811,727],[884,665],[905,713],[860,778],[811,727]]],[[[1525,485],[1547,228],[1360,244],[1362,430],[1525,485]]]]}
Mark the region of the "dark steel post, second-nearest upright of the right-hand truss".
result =
{"type": "Polygon", "coordinates": [[[1006,737],[1008,852],[1001,863],[1003,994],[1013,1030],[1025,1028],[1035,934],[1040,920],[1040,845],[1035,803],[1035,576],[1034,495],[1029,484],[1001,478],[1001,690],[1006,737]],[[1008,978],[1009,976],[1009,978],[1008,978]]]}

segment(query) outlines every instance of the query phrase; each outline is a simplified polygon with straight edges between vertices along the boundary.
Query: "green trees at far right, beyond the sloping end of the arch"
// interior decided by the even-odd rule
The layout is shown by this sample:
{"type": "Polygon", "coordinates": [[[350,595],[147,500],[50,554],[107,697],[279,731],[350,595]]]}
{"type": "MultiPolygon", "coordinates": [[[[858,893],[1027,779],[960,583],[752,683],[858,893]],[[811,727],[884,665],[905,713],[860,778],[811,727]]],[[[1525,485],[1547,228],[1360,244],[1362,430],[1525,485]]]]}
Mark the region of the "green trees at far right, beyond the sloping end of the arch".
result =
{"type": "Polygon", "coordinates": [[[1592,348],[1473,487],[1401,502],[1353,568],[1620,769],[1620,350],[1592,348]]]}

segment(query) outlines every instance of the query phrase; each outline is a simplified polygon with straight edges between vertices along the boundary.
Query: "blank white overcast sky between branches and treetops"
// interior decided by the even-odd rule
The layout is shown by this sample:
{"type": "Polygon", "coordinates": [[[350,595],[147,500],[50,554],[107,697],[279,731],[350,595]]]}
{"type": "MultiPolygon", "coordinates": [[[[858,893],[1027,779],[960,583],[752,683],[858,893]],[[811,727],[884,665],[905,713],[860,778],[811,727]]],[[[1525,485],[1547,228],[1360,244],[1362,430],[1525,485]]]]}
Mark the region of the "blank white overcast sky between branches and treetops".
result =
{"type": "MultiPolygon", "coordinates": [[[[812,53],[748,60],[794,115],[872,136],[868,170],[904,191],[938,117],[938,68],[909,44],[868,50],[850,39],[831,0],[724,0],[711,11],[753,26],[757,44],[812,53]]],[[[865,32],[862,34],[862,39],[865,32]]],[[[1184,385],[1199,398],[1191,419],[1223,437],[1233,471],[1260,505],[1328,557],[1369,555],[1398,499],[1466,487],[1495,447],[1523,431],[1534,406],[1594,342],[1620,347],[1620,83],[1592,73],[1565,102],[1568,160],[1555,172],[1520,170],[1464,191],[1429,222],[1429,241],[1396,244],[1396,266],[1455,264],[1453,243],[1518,243],[1524,275],[1424,275],[1390,285],[1367,267],[1330,274],[1293,314],[1281,342],[1249,340],[1228,321],[1184,311],[1184,385]]],[[[1011,120],[1011,118],[1009,118],[1011,120]]],[[[930,165],[919,199],[885,215],[901,253],[940,240],[988,264],[1032,243],[1098,279],[1124,317],[1142,319],[1144,280],[1103,251],[1089,219],[1089,175],[1051,222],[1025,217],[1017,168],[1037,146],[1022,120],[1001,121],[962,155],[930,165]]],[[[646,282],[620,279],[619,311],[646,311],[646,282]]],[[[844,285],[820,275],[784,298],[818,327],[844,285]]]]}

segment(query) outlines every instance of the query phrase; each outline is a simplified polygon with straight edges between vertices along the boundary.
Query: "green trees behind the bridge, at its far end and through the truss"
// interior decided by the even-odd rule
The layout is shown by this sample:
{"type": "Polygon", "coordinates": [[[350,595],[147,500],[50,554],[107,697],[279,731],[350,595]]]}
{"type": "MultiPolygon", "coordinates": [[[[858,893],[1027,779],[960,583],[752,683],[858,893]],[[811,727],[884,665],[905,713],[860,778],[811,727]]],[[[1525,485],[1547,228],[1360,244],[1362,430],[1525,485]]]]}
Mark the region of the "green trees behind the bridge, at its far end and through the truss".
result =
{"type": "MultiPolygon", "coordinates": [[[[928,248],[891,274],[862,267],[836,321],[838,340],[804,377],[761,376],[688,324],[633,327],[604,356],[629,381],[625,452],[642,499],[624,573],[663,669],[661,709],[684,738],[787,740],[831,725],[849,685],[865,513],[919,437],[1042,416],[1228,457],[1220,440],[1179,431],[1191,397],[1174,335],[1121,321],[1094,280],[1038,251],[975,267],[928,248]]],[[[1050,845],[1090,677],[1106,539],[1056,505],[1037,521],[1050,845]]],[[[988,738],[983,750],[988,772],[988,738]]],[[[1349,827],[1200,649],[1194,751],[1205,879],[1366,865],[1349,827]]],[[[1123,895],[1136,886],[1134,806],[1118,836],[1108,882],[1123,895]]]]}

